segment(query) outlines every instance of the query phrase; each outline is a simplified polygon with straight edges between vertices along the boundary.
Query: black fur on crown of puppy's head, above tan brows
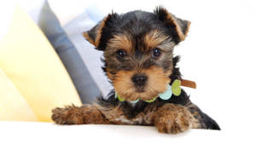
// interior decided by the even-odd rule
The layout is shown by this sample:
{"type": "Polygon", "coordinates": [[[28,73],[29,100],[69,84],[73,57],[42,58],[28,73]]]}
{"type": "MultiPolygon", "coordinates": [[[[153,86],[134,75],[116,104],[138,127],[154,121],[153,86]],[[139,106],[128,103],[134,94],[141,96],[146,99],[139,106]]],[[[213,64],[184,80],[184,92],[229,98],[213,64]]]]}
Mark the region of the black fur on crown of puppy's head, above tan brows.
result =
{"type": "Polygon", "coordinates": [[[109,14],[105,26],[102,28],[100,44],[96,49],[106,49],[108,40],[113,38],[113,35],[124,32],[130,33],[135,37],[135,43],[143,47],[142,37],[145,33],[150,32],[150,30],[160,30],[160,32],[164,32],[166,35],[172,35],[173,41],[179,43],[180,40],[173,26],[169,26],[161,21],[163,15],[163,13],[153,14],[140,10],[126,14],[109,14]]]}

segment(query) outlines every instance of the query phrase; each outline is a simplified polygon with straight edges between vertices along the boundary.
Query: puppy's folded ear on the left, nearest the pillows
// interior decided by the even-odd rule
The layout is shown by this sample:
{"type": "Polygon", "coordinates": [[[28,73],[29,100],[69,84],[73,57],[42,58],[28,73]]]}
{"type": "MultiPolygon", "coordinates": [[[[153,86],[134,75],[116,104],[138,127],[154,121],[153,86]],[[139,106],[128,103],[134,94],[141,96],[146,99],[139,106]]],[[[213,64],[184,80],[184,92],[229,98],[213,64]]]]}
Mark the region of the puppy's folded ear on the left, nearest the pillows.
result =
{"type": "MultiPolygon", "coordinates": [[[[102,38],[102,29],[106,26],[108,20],[110,19],[111,14],[108,14],[103,20],[101,20],[96,26],[91,28],[89,31],[84,32],[84,37],[93,44],[96,49],[99,49],[98,46],[101,43],[102,38]]],[[[99,49],[102,50],[102,49],[99,49]]]]}

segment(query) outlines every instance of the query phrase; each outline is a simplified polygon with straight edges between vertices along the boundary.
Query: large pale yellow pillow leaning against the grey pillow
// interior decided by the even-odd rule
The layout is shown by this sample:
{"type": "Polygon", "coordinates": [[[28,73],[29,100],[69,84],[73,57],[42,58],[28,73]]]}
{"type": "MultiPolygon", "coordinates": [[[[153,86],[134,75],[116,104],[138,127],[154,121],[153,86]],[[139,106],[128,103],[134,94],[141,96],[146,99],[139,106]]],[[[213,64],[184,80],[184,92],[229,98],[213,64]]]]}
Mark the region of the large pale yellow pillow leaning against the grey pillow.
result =
{"type": "Polygon", "coordinates": [[[51,109],[55,107],[71,103],[81,105],[55,50],[38,26],[18,7],[9,32],[0,41],[0,67],[39,121],[51,122],[51,109]]]}

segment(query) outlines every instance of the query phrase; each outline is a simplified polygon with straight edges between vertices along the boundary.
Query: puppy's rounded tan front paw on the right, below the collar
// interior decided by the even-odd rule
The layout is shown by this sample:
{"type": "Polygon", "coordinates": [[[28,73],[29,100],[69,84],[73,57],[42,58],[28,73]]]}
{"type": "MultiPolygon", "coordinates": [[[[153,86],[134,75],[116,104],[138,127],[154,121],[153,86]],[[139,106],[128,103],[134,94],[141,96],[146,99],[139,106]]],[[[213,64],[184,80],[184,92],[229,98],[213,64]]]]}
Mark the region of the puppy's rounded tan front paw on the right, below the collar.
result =
{"type": "Polygon", "coordinates": [[[177,134],[192,128],[193,121],[187,107],[167,103],[156,111],[154,125],[161,133],[177,134]]]}

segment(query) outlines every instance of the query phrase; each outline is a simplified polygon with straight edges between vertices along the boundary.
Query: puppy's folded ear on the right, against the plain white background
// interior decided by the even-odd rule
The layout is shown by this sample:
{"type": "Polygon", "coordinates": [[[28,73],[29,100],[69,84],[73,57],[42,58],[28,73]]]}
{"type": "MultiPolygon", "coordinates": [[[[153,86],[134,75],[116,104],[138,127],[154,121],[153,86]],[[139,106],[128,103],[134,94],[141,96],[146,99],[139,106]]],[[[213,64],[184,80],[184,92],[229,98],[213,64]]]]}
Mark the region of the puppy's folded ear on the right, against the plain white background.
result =
{"type": "Polygon", "coordinates": [[[169,13],[163,7],[157,7],[154,9],[154,14],[158,19],[165,22],[167,27],[174,28],[175,32],[172,35],[177,37],[177,43],[183,41],[189,32],[190,21],[177,18],[175,15],[169,13]]]}

